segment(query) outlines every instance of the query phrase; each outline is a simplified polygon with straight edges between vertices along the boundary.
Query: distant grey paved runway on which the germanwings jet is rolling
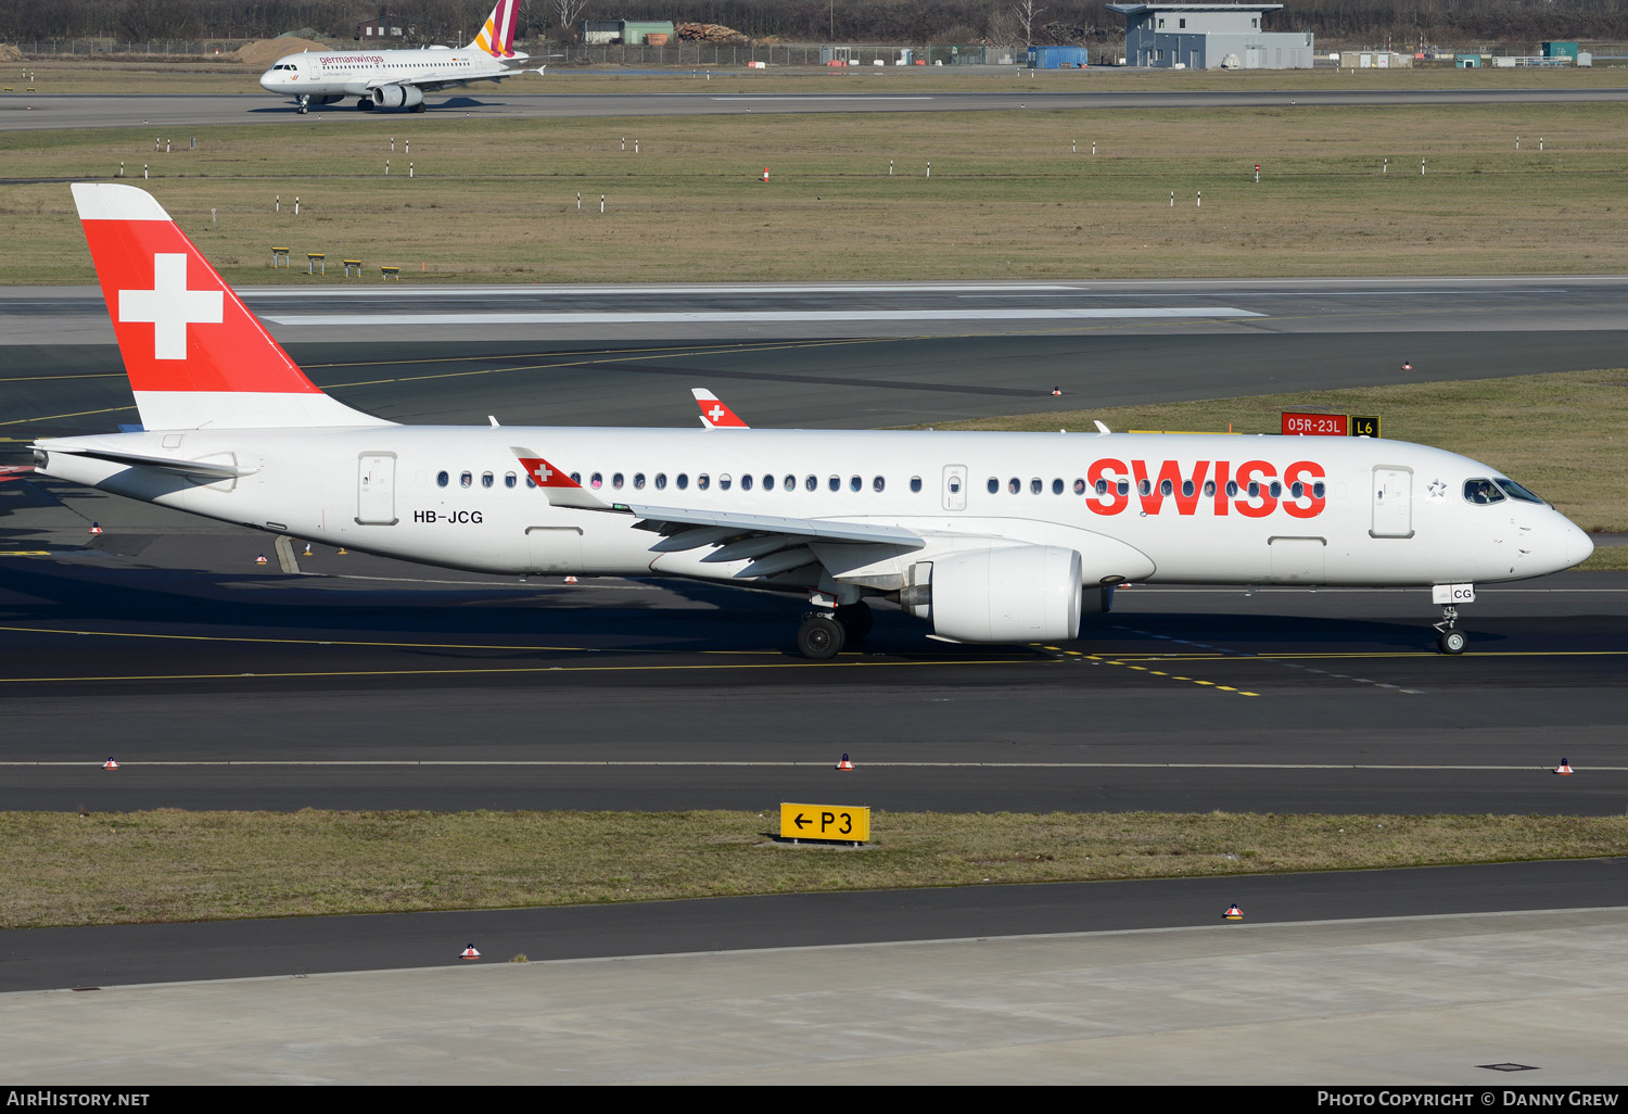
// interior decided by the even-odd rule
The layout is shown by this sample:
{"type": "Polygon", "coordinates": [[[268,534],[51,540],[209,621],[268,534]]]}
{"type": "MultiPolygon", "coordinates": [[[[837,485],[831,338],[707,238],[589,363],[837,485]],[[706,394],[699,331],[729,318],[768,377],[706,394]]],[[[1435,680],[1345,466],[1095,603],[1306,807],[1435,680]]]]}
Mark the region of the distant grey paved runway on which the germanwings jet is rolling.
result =
{"type": "MultiPolygon", "coordinates": [[[[1068,109],[1123,111],[1159,107],[1291,107],[1291,106],[1407,106],[1407,104],[1561,104],[1620,103],[1628,88],[1605,90],[1205,90],[1195,93],[1123,93],[1102,86],[1058,91],[1047,80],[1029,78],[1032,88],[1004,91],[926,93],[910,88],[910,78],[889,75],[835,77],[848,88],[821,93],[545,93],[547,78],[518,78],[505,90],[479,90],[453,96],[431,96],[425,119],[557,119],[635,116],[744,116],[801,112],[1055,112],[1068,109]],[[887,81],[887,91],[864,91],[864,83],[887,81]],[[527,91],[521,91],[527,90],[527,91]]],[[[1008,75],[1001,75],[1004,80],[1008,75]]],[[[1055,75],[1053,83],[1055,83],[1055,75]]],[[[1009,75],[1019,81],[1019,75],[1009,75]]],[[[244,73],[246,83],[254,77],[244,73]]],[[[707,73],[694,73],[697,83],[707,73]]],[[[817,78],[816,78],[817,80],[817,78]]],[[[1330,75],[1328,83],[1338,78],[1330,75]]],[[[287,124],[290,127],[344,124],[376,119],[358,112],[353,101],[313,106],[308,116],[295,112],[291,101],[265,93],[241,94],[50,94],[36,93],[0,99],[0,130],[47,130],[83,127],[135,127],[142,124],[287,124]]],[[[404,114],[405,119],[405,114],[404,114]]]]}

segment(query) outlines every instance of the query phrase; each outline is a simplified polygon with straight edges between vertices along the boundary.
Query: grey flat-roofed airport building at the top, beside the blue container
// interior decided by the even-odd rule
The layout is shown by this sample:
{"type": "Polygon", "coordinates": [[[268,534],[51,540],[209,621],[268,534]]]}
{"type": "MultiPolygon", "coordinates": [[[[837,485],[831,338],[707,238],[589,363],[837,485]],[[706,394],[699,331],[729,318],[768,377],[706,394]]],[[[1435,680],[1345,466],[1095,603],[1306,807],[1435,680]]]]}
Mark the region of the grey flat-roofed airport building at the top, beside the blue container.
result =
{"type": "Polygon", "coordinates": [[[1130,65],[1174,70],[1309,70],[1311,31],[1263,31],[1281,3],[1110,3],[1125,16],[1130,65]]]}

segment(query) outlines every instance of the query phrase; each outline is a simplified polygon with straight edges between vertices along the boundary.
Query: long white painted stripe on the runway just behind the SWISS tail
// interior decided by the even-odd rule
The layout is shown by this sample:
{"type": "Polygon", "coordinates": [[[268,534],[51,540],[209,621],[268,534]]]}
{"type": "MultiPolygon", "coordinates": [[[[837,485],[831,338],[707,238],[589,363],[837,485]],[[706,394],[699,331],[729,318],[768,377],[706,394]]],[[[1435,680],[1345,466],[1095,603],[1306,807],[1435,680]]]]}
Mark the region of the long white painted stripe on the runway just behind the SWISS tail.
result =
{"type": "Polygon", "coordinates": [[[371,313],[267,314],[280,326],[456,326],[456,324],[682,324],[772,321],[1092,321],[1131,318],[1260,318],[1232,306],[1123,306],[1117,309],[697,309],[630,313],[371,313]]]}

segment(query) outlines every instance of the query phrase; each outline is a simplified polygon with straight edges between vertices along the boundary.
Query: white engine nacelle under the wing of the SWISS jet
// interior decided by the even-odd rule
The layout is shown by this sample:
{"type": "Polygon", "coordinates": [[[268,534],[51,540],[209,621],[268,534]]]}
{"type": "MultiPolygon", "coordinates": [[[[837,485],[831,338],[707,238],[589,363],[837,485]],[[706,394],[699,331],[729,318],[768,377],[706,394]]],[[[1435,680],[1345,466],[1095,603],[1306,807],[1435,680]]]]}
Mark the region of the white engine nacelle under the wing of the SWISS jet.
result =
{"type": "MultiPolygon", "coordinates": [[[[956,642],[1055,642],[1079,635],[1079,552],[1011,546],[947,554],[912,567],[900,603],[956,642]]],[[[1105,609],[1105,601],[1094,601],[1105,609]]],[[[1094,607],[1096,609],[1096,607],[1094,607]]]]}

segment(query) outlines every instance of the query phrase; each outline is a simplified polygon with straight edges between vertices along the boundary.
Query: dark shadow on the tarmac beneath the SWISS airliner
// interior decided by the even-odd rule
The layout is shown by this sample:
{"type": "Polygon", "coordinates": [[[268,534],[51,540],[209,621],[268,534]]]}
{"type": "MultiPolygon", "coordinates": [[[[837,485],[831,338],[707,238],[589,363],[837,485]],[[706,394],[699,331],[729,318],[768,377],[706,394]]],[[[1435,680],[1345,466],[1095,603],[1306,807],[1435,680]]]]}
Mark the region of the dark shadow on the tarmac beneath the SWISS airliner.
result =
{"type": "MultiPolygon", "coordinates": [[[[0,565],[0,622],[153,624],[254,632],[301,632],[334,640],[410,637],[435,643],[498,638],[501,648],[464,647],[461,653],[536,658],[558,650],[513,643],[562,643],[599,651],[759,651],[794,656],[791,630],[806,604],[791,596],[690,581],[606,581],[620,585],[606,599],[593,578],[580,586],[549,580],[524,585],[440,588],[433,591],[348,588],[329,577],[221,573],[174,568],[106,568],[10,560],[0,565]],[[650,591],[627,591],[646,586],[650,591]],[[246,598],[247,596],[247,598],[246,598]]],[[[1031,647],[957,647],[928,640],[928,627],[892,607],[876,607],[876,627],[863,647],[913,660],[964,656],[1031,658],[1031,647]]],[[[1480,645],[1503,642],[1496,630],[1477,634],[1480,645]]],[[[1431,630],[1423,622],[1283,616],[1249,611],[1159,612],[1088,617],[1076,648],[1088,653],[1289,653],[1319,650],[1420,650],[1431,630]]],[[[436,645],[400,651],[446,656],[436,645]]]]}

